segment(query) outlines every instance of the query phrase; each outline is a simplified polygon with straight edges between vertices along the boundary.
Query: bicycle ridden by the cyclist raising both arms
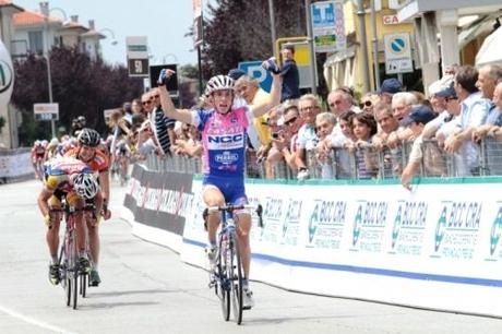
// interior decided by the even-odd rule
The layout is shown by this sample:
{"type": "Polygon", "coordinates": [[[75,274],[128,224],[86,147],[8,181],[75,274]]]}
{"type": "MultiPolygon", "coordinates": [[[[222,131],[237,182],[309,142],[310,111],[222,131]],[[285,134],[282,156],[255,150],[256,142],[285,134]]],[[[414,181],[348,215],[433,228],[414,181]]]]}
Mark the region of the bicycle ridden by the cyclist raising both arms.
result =
{"type": "Polygon", "coordinates": [[[210,270],[210,287],[215,288],[215,294],[220,300],[224,320],[228,321],[230,319],[231,305],[234,320],[237,324],[241,324],[242,311],[244,310],[242,305],[242,281],[244,275],[237,238],[238,218],[234,215],[237,210],[255,210],[259,225],[263,227],[263,207],[260,204],[210,206],[204,210],[203,217],[206,219],[211,212],[222,213],[216,264],[210,270]]]}

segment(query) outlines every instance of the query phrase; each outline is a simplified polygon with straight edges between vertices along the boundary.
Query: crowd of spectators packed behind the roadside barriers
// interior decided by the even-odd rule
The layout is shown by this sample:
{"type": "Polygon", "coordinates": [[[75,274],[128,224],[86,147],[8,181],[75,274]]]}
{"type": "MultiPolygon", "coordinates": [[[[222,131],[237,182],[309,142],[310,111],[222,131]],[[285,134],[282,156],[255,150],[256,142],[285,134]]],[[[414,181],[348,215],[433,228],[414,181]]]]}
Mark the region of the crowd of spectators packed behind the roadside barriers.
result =
{"type": "MultiPolygon", "coordinates": [[[[294,49],[284,48],[282,55],[283,68],[275,70],[287,69],[284,76],[289,79],[284,84],[298,85],[294,49]]],[[[234,69],[228,75],[236,82],[236,104],[242,99],[256,105],[267,98],[268,93],[247,73],[234,69]]],[[[502,175],[498,146],[502,140],[502,68],[498,65],[479,70],[449,67],[425,94],[408,91],[397,79],[384,80],[378,92],[359,100],[349,87],[336,87],[325,99],[299,95],[298,87],[283,87],[283,92],[288,97],[249,129],[251,175],[401,178],[406,188],[418,174],[502,175]]],[[[138,159],[148,154],[165,159],[200,157],[198,129],[167,118],[158,97],[153,88],[110,117],[111,152],[120,151],[124,143],[129,150],[120,154],[138,159]]],[[[204,96],[194,106],[207,107],[211,100],[204,96]]]]}

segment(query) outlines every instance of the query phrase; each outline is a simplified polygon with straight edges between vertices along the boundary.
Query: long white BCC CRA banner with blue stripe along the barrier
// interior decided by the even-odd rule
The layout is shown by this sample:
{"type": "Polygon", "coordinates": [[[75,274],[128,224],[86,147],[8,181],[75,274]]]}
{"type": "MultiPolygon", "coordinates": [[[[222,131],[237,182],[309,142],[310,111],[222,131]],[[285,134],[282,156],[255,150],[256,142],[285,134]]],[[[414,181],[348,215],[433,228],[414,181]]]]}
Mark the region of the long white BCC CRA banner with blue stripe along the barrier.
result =
{"type": "MultiPolygon", "coordinates": [[[[493,183],[248,183],[251,278],[308,293],[502,317],[502,180],[493,183]]],[[[201,181],[181,257],[206,266],[201,181]],[[199,200],[198,200],[199,199],[199,200]]]]}

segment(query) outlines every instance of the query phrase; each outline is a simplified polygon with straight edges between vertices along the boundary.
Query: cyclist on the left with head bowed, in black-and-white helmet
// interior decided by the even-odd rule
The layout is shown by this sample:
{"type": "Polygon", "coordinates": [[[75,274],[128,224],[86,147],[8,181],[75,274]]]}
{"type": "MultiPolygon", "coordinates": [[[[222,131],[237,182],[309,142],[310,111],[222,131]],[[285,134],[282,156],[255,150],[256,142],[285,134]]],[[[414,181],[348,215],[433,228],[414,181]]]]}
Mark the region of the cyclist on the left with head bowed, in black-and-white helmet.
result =
{"type": "MultiPolygon", "coordinates": [[[[61,222],[61,199],[64,195],[67,204],[82,208],[84,201],[96,198],[96,222],[100,220],[103,196],[99,184],[93,170],[83,162],[61,157],[46,164],[46,182],[38,195],[38,207],[48,229],[46,234],[47,246],[50,252],[49,279],[53,285],[60,281],[58,265],[59,226],[61,222]]],[[[91,272],[91,263],[86,253],[85,227],[83,212],[75,212],[76,247],[79,265],[85,272],[91,272]]]]}

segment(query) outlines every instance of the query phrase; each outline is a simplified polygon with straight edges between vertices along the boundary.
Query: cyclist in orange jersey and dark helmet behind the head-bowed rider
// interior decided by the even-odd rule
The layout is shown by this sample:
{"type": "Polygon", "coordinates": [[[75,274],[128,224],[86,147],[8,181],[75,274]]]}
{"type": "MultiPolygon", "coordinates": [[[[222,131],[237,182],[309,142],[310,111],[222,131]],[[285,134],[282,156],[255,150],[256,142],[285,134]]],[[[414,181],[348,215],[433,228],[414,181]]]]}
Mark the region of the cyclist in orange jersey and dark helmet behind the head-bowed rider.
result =
{"type": "MultiPolygon", "coordinates": [[[[101,142],[101,138],[96,130],[84,128],[80,130],[77,136],[77,146],[68,151],[64,156],[74,157],[85,163],[94,172],[98,174],[99,186],[103,195],[103,212],[105,219],[110,217],[110,211],[108,210],[108,203],[110,199],[110,182],[108,177],[109,158],[108,156],[98,150],[101,142]]],[[[86,201],[87,204],[93,204],[94,200],[89,199],[86,201]]],[[[99,263],[99,230],[98,220],[93,216],[85,215],[85,223],[87,225],[88,241],[91,248],[91,255],[93,260],[93,266],[89,273],[89,284],[92,286],[98,286],[101,283],[98,273],[99,263]]]]}

